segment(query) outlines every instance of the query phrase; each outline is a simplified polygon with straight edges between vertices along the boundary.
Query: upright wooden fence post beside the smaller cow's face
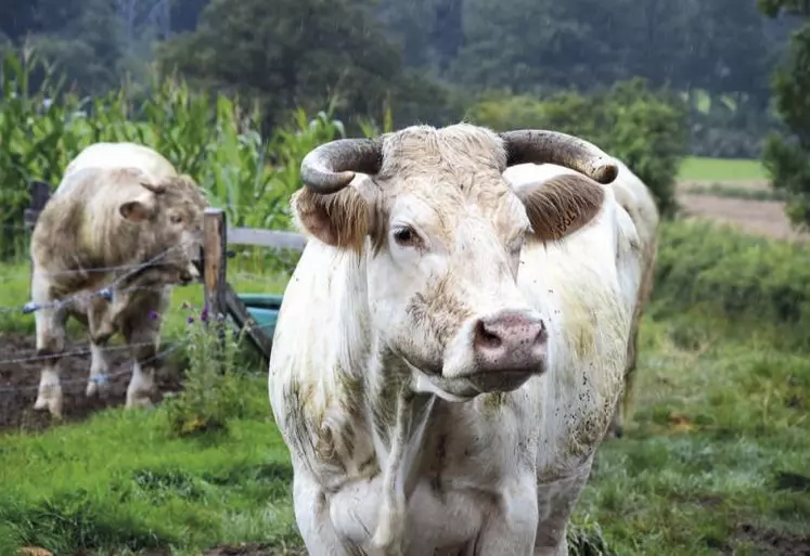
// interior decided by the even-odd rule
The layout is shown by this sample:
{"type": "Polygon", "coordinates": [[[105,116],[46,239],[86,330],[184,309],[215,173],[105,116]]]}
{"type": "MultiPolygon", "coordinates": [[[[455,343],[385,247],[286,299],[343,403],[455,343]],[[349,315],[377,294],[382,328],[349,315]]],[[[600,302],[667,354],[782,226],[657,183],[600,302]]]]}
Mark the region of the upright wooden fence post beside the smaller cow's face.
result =
{"type": "Polygon", "coordinates": [[[203,284],[209,319],[223,319],[227,314],[227,233],[224,211],[207,208],[203,215],[203,284]]]}

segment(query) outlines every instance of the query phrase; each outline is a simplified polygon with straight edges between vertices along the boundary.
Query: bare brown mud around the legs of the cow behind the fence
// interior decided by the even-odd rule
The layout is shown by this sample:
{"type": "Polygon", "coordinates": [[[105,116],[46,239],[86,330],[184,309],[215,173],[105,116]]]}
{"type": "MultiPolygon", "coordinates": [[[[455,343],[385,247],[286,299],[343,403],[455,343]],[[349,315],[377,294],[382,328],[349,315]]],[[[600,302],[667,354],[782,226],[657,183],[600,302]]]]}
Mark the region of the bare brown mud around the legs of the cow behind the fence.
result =
{"type": "MultiPolygon", "coordinates": [[[[123,405],[131,376],[132,360],[126,349],[111,349],[110,391],[106,399],[87,398],[85,389],[90,374],[90,354],[87,342],[68,340],[66,351],[77,352],[60,363],[64,393],[63,422],[79,421],[105,408],[123,405]]],[[[52,425],[47,411],[35,411],[39,373],[42,361],[36,359],[33,336],[0,333],[0,430],[40,430],[52,425]]],[[[164,361],[156,383],[159,401],[167,391],[178,391],[181,373],[164,361]]]]}

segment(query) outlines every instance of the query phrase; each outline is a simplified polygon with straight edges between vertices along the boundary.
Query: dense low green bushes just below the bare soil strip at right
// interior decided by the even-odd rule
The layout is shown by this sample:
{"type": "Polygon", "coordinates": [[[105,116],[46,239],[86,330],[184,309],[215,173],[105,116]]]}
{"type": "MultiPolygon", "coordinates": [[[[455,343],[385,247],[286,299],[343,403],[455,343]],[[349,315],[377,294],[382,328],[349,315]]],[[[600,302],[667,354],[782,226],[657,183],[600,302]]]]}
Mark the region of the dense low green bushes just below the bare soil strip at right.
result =
{"type": "MultiPolygon", "coordinates": [[[[660,229],[653,293],[661,315],[703,313],[727,323],[803,331],[810,323],[810,246],[725,225],[677,221],[660,229]]],[[[808,340],[782,334],[780,341],[808,340]]]]}

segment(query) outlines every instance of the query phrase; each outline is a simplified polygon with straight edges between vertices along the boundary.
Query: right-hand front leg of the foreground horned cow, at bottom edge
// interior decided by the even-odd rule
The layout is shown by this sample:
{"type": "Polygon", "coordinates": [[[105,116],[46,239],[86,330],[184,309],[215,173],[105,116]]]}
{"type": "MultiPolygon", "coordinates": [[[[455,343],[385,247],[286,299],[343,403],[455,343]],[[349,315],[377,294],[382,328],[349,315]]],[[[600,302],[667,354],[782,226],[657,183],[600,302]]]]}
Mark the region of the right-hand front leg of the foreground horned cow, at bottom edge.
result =
{"type": "Polygon", "coordinates": [[[490,513],[475,542],[475,556],[532,556],[538,507],[533,475],[512,481],[490,513]]]}

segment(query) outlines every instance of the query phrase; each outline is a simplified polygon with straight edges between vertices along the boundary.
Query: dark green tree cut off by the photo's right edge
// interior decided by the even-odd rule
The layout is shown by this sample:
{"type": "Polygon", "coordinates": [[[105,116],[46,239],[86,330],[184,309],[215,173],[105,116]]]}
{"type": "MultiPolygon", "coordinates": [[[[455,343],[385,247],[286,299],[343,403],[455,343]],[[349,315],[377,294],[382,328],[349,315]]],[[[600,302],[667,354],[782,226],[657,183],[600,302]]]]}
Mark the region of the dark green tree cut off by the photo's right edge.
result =
{"type": "Polygon", "coordinates": [[[772,88],[785,132],[768,138],[762,163],[775,189],[788,193],[787,216],[800,228],[810,225],[810,0],[760,0],[769,17],[800,17],[802,26],[789,40],[786,60],[774,72],[772,88]]]}

